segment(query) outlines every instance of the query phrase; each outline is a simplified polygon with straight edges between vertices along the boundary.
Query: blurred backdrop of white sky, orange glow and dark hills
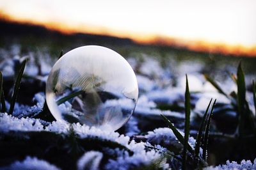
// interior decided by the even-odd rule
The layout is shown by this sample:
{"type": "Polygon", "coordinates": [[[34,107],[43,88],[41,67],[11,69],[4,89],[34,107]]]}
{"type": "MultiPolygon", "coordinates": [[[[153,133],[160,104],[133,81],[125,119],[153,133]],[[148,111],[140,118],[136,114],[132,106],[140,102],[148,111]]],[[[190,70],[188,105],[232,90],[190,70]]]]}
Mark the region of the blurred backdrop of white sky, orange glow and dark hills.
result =
{"type": "Polygon", "coordinates": [[[255,16],[256,3],[250,0],[2,0],[1,46],[22,38],[35,41],[32,44],[37,47],[46,42],[66,50],[64,45],[73,38],[76,45],[105,41],[109,45],[150,45],[253,57],[255,16]]]}

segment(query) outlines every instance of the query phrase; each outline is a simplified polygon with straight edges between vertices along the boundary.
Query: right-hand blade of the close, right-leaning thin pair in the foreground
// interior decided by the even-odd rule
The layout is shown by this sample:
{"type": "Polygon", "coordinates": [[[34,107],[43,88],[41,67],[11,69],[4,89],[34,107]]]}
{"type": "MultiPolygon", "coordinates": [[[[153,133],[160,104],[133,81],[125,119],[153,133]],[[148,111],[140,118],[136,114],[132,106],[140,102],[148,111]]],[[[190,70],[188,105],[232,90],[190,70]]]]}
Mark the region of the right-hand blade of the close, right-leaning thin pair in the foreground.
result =
{"type": "Polygon", "coordinates": [[[212,111],[214,109],[214,105],[216,104],[216,99],[214,100],[212,104],[211,112],[207,119],[207,125],[205,127],[205,133],[204,133],[204,144],[203,144],[203,159],[206,161],[206,154],[207,154],[207,146],[208,146],[208,139],[209,139],[209,131],[210,131],[210,123],[212,118],[212,111]]]}

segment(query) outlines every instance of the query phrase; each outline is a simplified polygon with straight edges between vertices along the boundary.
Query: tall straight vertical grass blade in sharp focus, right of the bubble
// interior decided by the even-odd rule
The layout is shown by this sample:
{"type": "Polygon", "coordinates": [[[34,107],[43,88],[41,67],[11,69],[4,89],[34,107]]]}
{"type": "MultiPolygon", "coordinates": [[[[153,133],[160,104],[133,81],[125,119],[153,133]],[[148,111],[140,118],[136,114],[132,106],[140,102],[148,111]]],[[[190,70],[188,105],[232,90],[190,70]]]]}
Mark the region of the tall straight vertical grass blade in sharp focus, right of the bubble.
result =
{"type": "Polygon", "coordinates": [[[184,130],[184,144],[183,144],[183,156],[182,156],[182,169],[186,169],[187,162],[187,148],[189,137],[189,123],[190,123],[190,93],[188,86],[188,75],[186,75],[186,91],[185,91],[185,130],[184,130]]]}

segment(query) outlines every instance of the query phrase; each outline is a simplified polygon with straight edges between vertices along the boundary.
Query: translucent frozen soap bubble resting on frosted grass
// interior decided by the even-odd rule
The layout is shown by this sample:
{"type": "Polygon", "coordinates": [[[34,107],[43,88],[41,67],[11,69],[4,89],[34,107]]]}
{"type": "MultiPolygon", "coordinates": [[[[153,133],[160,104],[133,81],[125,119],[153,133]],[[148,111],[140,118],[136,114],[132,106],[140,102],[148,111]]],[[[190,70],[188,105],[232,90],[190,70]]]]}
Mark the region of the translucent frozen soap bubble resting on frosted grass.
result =
{"type": "Polygon", "coordinates": [[[138,100],[131,66],[117,52],[88,45],[70,50],[52,67],[46,102],[56,120],[117,130],[138,100]]]}

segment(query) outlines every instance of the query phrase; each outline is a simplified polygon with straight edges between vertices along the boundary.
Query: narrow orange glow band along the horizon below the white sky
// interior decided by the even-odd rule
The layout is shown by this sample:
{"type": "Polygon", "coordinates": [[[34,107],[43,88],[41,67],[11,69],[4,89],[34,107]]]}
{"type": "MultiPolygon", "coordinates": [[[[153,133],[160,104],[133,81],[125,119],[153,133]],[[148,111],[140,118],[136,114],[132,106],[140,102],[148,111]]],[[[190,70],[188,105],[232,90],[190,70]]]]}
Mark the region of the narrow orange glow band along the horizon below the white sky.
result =
{"type": "Polygon", "coordinates": [[[204,40],[186,40],[186,38],[170,37],[163,35],[152,34],[140,34],[131,33],[127,31],[120,31],[115,29],[109,29],[108,27],[91,26],[89,24],[65,24],[58,21],[41,21],[41,20],[29,20],[19,16],[12,16],[4,13],[0,10],[0,19],[18,22],[21,24],[31,24],[44,26],[47,29],[60,31],[64,34],[73,33],[87,33],[93,35],[107,35],[116,36],[118,38],[130,38],[134,42],[145,45],[166,45],[170,47],[182,47],[197,52],[211,52],[214,54],[225,54],[234,56],[248,56],[256,57],[256,45],[230,45],[223,42],[207,42],[204,40]]]}

